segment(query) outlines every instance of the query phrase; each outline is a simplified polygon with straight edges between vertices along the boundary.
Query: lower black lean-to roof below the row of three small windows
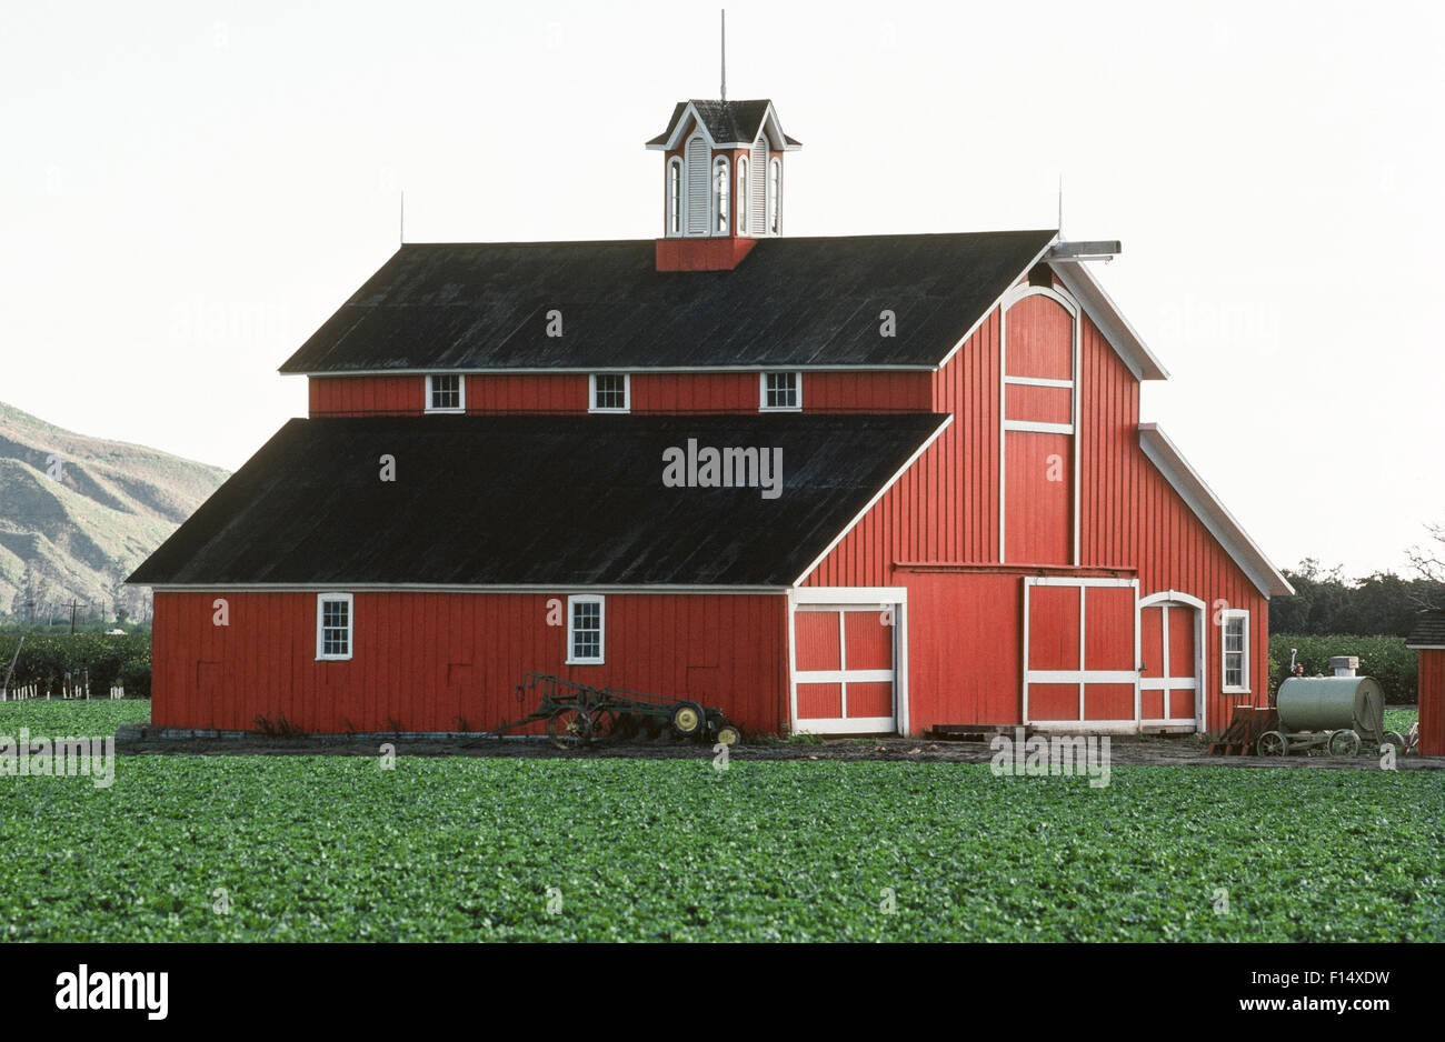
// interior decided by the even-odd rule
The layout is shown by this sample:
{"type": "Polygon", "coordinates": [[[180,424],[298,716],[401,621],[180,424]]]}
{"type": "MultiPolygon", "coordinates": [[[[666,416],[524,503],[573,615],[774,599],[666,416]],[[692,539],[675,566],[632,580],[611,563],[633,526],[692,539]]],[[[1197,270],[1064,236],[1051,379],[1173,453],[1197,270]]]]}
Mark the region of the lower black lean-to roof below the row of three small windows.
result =
{"type": "Polygon", "coordinates": [[[292,420],[131,583],[720,585],[799,577],[944,416],[292,420]],[[662,453],[782,447],[783,492],[665,488],[662,453]],[[396,459],[381,482],[379,459],[396,459]]]}

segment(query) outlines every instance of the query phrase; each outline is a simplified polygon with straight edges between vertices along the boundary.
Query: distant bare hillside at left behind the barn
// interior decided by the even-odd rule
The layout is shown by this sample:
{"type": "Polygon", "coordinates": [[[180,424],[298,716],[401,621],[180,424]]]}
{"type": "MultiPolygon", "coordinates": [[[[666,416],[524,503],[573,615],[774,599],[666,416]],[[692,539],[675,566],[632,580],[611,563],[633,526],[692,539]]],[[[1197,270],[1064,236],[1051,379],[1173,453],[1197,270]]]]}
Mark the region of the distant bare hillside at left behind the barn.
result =
{"type": "Polygon", "coordinates": [[[107,613],[118,600],[139,619],[142,593],[121,582],[228,476],[0,403],[0,616],[75,599],[107,613]]]}

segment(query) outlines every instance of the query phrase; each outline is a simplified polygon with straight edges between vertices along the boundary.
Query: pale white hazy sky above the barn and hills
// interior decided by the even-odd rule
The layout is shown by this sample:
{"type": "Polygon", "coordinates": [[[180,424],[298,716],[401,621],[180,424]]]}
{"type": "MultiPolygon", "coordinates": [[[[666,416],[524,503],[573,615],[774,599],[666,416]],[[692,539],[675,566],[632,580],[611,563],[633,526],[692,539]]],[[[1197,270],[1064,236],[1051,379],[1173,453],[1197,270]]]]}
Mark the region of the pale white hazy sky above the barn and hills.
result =
{"type": "MultiPolygon", "coordinates": [[[[7,4],[0,401],[240,466],[276,367],[409,241],[652,238],[718,3],[7,4]]],[[[785,232],[1052,228],[1276,564],[1445,521],[1435,3],[728,3],[803,141],[785,232]]]]}

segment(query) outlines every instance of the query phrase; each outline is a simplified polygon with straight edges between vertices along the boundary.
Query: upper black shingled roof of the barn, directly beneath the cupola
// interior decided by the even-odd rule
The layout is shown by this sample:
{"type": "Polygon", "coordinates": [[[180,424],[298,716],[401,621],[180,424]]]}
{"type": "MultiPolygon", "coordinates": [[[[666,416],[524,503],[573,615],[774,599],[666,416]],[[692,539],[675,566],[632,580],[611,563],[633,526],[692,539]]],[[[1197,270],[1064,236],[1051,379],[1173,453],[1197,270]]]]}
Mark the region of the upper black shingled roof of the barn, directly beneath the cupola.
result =
{"type": "Polygon", "coordinates": [[[280,371],[932,367],[1053,235],[772,238],[731,271],[657,271],[653,240],[409,244],[280,371]]]}

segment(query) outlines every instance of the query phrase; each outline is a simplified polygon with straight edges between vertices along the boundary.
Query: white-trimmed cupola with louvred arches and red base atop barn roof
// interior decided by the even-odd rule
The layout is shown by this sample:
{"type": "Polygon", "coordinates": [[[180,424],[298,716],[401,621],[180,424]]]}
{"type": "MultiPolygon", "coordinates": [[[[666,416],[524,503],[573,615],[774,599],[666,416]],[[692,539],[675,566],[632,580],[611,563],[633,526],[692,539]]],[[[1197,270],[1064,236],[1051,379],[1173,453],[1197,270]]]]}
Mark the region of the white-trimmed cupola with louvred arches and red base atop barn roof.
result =
{"type": "Polygon", "coordinates": [[[733,268],[782,234],[783,153],[802,143],[772,101],[679,101],[647,147],[663,153],[659,271],[733,268]]]}

